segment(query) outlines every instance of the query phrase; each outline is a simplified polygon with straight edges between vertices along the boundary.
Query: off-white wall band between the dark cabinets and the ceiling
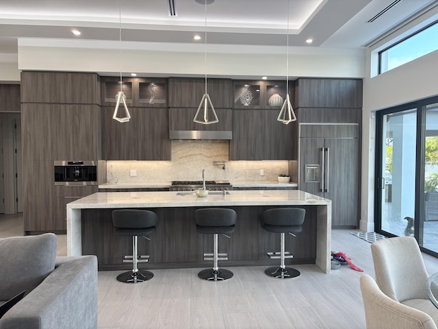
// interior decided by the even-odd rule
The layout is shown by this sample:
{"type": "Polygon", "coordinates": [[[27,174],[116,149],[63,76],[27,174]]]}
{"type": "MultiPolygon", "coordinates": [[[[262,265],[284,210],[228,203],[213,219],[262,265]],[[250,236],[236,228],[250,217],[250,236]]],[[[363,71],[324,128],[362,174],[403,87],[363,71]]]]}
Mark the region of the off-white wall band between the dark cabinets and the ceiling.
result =
{"type": "MultiPolygon", "coordinates": [[[[18,69],[146,73],[155,76],[205,75],[205,47],[162,43],[85,40],[18,40],[18,69]],[[137,49],[136,49],[137,48],[137,49]],[[121,60],[120,60],[121,58],[121,60]]],[[[364,76],[364,49],[290,47],[289,77],[364,76]]],[[[286,47],[209,45],[207,74],[221,77],[285,77],[286,47]]],[[[0,73],[1,74],[1,73],[0,73]]],[[[1,80],[1,76],[0,76],[1,80]]]]}

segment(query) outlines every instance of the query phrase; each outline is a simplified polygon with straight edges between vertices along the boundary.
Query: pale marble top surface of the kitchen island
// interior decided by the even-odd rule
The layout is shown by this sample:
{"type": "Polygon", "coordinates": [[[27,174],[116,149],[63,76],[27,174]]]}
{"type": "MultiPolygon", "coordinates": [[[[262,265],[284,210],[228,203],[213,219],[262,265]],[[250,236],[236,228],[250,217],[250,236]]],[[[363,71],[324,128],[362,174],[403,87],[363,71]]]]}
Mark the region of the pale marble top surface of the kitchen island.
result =
{"type": "Polygon", "coordinates": [[[179,192],[99,192],[67,204],[69,209],[152,208],[191,206],[302,206],[329,205],[331,200],[299,190],[220,191],[207,197],[179,192]]]}

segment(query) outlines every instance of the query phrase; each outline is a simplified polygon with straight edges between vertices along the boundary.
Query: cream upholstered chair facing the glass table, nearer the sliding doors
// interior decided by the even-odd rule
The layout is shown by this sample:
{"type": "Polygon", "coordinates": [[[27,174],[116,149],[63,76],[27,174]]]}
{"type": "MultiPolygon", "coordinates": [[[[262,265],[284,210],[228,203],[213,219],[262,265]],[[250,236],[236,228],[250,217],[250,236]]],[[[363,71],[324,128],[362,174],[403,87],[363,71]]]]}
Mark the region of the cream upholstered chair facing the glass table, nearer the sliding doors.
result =
{"type": "Polygon", "coordinates": [[[438,323],[438,309],[426,293],[428,273],[412,236],[376,241],[371,245],[376,283],[392,300],[422,310],[438,323]]]}

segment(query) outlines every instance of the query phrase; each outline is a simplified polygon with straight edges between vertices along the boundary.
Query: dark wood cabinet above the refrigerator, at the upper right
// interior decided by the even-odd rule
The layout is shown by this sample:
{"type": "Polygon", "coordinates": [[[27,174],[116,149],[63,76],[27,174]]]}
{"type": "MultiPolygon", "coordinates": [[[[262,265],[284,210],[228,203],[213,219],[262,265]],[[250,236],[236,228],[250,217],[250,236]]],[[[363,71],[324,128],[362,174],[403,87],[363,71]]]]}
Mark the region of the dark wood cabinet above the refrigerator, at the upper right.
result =
{"type": "Polygon", "coordinates": [[[298,108],[362,108],[362,80],[300,78],[298,108]]]}

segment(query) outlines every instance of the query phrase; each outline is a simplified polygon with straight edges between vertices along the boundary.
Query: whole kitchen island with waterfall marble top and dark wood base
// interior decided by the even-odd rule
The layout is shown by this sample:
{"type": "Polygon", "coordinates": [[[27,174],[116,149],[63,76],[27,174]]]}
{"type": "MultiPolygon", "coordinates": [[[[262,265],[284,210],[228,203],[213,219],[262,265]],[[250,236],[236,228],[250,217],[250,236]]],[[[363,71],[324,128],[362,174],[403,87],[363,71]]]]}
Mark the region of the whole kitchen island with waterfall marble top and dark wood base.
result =
{"type": "Polygon", "coordinates": [[[229,191],[227,195],[214,191],[207,197],[179,192],[94,193],[67,204],[68,255],[95,254],[99,270],[129,269],[122,259],[131,254],[131,239],[115,234],[111,212],[145,208],[157,212],[159,226],[151,241],[139,239],[139,254],[151,256],[142,268],[210,267],[203,254],[211,252],[212,237],[196,232],[193,217],[194,210],[205,207],[227,207],[237,212],[231,239],[220,236],[219,252],[229,254],[222,266],[279,263],[266,256],[266,252],[279,251],[279,234],[263,230],[259,214],[268,208],[305,208],[302,232],[286,239],[286,249],[294,255],[286,263],[314,263],[330,273],[331,200],[297,190],[229,191]]]}

